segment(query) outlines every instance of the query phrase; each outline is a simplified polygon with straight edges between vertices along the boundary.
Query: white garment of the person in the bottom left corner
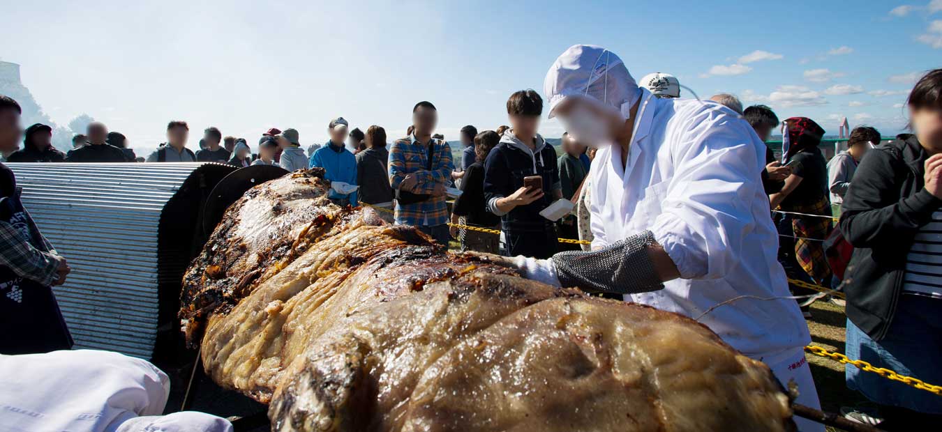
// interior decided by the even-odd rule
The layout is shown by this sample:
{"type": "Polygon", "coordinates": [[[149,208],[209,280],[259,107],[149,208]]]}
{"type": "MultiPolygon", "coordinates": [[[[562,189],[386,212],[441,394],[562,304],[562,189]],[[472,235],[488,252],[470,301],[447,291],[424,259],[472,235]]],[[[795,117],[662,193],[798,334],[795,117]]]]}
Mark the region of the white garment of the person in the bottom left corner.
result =
{"type": "Polygon", "coordinates": [[[200,412],[160,417],[169,394],[166,374],[118,353],[0,355],[3,431],[232,431],[225,419],[200,412]],[[147,428],[152,424],[161,427],[147,428]]]}

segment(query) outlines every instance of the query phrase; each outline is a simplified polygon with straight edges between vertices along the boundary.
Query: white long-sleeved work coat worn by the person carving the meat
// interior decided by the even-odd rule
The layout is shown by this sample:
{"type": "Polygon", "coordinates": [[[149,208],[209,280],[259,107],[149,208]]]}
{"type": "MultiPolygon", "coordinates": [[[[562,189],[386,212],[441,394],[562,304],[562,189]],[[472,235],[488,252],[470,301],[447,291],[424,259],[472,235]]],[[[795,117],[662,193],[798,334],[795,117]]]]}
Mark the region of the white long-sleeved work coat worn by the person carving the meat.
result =
{"type": "MultiPolygon", "coordinates": [[[[626,167],[621,147],[606,146],[589,172],[593,248],[650,230],[682,279],[625,300],[697,319],[737,296],[789,296],[760,180],[765,148],[749,123],[646,89],[641,101],[626,167]]],[[[792,299],[740,298],[699,320],[748,356],[811,340],[792,299]]]]}

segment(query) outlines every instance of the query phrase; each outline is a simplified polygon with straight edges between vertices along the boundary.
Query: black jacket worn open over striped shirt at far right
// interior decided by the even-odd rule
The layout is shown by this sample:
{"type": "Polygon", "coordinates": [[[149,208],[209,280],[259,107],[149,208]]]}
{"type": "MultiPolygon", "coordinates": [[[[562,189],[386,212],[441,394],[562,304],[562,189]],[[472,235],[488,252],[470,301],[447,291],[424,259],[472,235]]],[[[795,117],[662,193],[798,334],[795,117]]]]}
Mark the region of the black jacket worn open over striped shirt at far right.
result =
{"type": "Polygon", "coordinates": [[[875,341],[893,322],[913,239],[942,205],[923,187],[926,158],[915,136],[878,146],[844,196],[840,231],[854,247],[844,275],[847,317],[875,341]]]}

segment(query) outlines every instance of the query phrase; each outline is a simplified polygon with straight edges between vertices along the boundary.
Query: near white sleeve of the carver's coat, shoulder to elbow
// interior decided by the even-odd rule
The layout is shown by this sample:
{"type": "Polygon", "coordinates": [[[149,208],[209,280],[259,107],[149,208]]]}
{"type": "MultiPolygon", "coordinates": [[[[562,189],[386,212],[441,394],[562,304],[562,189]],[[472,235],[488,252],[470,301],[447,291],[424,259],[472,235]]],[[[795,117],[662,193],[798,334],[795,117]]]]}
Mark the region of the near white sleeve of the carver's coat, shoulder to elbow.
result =
{"type": "Polygon", "coordinates": [[[761,187],[758,137],[730,116],[699,113],[672,139],[674,179],[651,231],[683,279],[719,279],[739,265],[761,187]]]}

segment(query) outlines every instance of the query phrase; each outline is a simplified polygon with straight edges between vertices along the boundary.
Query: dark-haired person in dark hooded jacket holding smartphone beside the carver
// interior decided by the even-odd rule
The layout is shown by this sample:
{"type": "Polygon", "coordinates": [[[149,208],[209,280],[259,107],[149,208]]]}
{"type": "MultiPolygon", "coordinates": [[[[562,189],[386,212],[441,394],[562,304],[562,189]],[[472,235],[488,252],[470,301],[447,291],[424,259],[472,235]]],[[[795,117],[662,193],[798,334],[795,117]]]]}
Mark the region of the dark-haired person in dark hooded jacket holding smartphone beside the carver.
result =
{"type": "Polygon", "coordinates": [[[511,129],[484,161],[484,200],[501,217],[507,256],[549,258],[559,248],[553,221],[540,216],[562,198],[556,151],[536,133],[543,99],[532,89],[507,100],[511,129]]]}

